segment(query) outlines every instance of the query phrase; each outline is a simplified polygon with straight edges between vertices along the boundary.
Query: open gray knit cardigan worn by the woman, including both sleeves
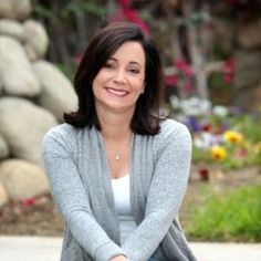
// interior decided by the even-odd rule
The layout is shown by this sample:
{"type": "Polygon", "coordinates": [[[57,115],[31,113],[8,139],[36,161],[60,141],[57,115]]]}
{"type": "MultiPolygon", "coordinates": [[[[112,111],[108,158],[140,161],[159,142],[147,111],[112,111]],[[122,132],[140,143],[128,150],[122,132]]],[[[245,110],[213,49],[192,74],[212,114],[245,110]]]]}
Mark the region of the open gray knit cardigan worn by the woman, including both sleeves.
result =
{"type": "Polygon", "coordinates": [[[155,136],[134,134],[130,155],[130,203],[137,228],[121,244],[101,133],[62,124],[45,135],[46,174],[65,219],[62,261],[107,261],[117,254],[132,261],[196,260],[178,223],[191,157],[188,129],[166,119],[155,136]]]}

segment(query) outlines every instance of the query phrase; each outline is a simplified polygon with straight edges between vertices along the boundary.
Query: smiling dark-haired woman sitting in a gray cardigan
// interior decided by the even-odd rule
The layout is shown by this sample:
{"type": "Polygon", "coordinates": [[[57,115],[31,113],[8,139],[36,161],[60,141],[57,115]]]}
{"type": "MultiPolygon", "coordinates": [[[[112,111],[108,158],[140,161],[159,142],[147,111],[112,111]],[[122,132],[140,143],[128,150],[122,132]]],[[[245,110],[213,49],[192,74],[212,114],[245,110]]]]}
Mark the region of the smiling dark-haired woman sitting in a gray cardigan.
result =
{"type": "Polygon", "coordinates": [[[79,109],[43,143],[65,219],[62,261],[195,260],[177,218],[191,140],[160,118],[161,83],[159,54],[137,25],[93,36],[74,81],[79,109]]]}

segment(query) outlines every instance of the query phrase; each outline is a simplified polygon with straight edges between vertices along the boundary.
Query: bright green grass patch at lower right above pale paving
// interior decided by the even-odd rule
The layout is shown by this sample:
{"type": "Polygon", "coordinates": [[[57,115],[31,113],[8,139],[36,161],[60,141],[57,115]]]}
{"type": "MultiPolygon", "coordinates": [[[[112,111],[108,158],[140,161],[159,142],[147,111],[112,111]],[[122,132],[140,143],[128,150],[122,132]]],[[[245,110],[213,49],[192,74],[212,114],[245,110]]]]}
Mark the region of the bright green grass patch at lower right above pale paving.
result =
{"type": "Polygon", "coordinates": [[[203,200],[191,211],[185,232],[191,240],[261,242],[261,186],[222,195],[202,190],[203,200]]]}

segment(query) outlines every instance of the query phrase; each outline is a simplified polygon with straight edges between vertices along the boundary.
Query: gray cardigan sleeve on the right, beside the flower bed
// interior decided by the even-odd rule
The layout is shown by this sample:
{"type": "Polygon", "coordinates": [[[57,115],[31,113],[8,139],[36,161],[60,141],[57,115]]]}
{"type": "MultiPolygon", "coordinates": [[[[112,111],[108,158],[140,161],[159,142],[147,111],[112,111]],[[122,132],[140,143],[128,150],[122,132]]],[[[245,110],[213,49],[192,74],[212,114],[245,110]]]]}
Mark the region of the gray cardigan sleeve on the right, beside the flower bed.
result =
{"type": "MultiPolygon", "coordinates": [[[[159,149],[148,190],[145,218],[133,231],[123,250],[132,261],[148,260],[168,232],[185,196],[190,159],[191,137],[182,124],[171,125],[159,149]]],[[[165,135],[165,134],[164,134],[165,135]]]]}

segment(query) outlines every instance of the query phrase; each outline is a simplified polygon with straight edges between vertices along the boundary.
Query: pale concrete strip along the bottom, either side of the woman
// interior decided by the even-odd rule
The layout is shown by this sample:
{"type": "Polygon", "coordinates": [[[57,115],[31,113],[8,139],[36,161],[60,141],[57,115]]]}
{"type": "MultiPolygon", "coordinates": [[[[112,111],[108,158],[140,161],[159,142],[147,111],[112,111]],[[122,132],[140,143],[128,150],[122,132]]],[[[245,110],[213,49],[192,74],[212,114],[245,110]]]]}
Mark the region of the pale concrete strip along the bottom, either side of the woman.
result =
{"type": "MultiPolygon", "coordinates": [[[[59,261],[61,238],[0,236],[1,261],[59,261]]],[[[190,242],[198,261],[261,261],[261,243],[190,242]]]]}

